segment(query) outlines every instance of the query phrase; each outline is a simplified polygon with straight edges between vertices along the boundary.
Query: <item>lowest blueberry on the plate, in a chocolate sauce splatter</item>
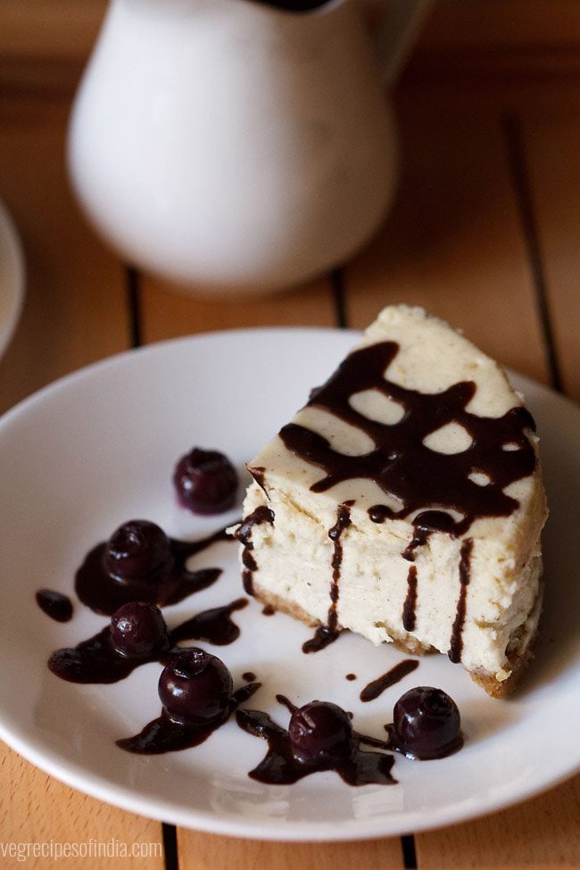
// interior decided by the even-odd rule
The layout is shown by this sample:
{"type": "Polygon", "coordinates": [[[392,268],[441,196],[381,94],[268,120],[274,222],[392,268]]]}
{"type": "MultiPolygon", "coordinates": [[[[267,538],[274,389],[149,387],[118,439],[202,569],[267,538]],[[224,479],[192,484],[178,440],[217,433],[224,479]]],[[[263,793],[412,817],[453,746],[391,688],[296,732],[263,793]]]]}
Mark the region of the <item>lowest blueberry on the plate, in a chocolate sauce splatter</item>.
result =
{"type": "Polygon", "coordinates": [[[306,763],[340,761],[351,750],[351,720],[328,701],[313,700],[294,710],[288,733],[294,758],[306,763]]]}

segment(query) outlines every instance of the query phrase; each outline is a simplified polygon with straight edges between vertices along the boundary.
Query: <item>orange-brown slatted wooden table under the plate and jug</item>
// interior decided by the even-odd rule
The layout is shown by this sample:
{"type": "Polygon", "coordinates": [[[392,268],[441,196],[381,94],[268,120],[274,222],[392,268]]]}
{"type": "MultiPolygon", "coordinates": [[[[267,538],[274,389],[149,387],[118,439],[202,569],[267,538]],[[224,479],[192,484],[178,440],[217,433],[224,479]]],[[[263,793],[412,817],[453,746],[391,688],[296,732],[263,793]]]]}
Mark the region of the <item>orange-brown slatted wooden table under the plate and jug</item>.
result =
{"type": "MultiPolygon", "coordinates": [[[[424,305],[510,368],[580,400],[580,88],[408,78],[396,103],[400,193],[368,247],[293,293],[211,302],[132,273],[87,227],[63,167],[70,95],[0,92],[0,195],[28,268],[21,325],[0,361],[0,410],[136,344],[228,327],[362,327],[388,302],[424,305]]],[[[88,798],[5,746],[0,765],[0,842],[164,844],[162,857],[116,859],[119,870],[580,867],[578,778],[467,824],[327,846],[176,831],[88,798]]]]}

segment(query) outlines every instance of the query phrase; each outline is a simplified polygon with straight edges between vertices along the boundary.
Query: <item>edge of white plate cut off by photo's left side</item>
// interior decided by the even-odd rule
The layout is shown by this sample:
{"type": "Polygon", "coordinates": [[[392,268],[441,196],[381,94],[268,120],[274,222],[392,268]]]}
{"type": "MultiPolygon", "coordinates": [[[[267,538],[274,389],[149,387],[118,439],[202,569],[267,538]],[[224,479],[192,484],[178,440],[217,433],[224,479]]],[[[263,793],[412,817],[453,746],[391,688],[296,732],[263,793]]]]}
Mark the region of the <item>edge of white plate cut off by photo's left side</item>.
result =
{"type": "Polygon", "coordinates": [[[10,214],[0,200],[0,357],[21,316],[24,298],[24,258],[10,214]]]}

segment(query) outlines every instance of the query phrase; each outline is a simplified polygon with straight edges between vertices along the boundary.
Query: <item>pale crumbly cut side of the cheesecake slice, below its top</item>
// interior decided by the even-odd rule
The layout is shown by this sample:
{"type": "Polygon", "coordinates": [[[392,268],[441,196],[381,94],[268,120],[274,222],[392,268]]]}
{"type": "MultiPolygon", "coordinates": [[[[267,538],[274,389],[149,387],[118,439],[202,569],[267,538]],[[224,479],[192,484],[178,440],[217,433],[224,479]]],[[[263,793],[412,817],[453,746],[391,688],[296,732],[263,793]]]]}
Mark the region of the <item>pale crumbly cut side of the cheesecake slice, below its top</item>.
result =
{"type": "Polygon", "coordinates": [[[278,491],[268,499],[254,483],[244,511],[252,516],[261,508],[271,510],[274,520],[253,526],[253,594],[311,626],[349,629],[375,644],[395,642],[413,654],[438,650],[468,671],[499,682],[512,670],[511,639],[521,653],[535,633],[542,574],[538,542],[520,566],[485,539],[433,533],[410,563],[403,553],[412,527],[401,536],[379,526],[371,537],[357,527],[351,508],[336,577],[336,544],[328,534],[336,521],[330,510],[323,524],[278,491]],[[461,551],[464,565],[469,552],[468,577],[463,578],[461,551]]]}

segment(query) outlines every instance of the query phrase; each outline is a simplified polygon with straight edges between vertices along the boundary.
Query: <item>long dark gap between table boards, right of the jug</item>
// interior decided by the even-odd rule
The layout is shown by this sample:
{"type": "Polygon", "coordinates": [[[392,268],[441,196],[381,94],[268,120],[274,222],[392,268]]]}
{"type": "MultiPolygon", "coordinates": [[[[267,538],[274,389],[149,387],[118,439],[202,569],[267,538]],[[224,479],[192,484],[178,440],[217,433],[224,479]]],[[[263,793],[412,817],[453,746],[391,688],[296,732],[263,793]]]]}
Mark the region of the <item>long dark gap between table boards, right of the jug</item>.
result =
{"type": "Polygon", "coordinates": [[[540,318],[544,353],[550,374],[551,386],[561,393],[562,377],[552,328],[540,236],[535,220],[534,197],[532,195],[530,174],[526,160],[526,147],[524,145],[521,123],[516,114],[512,112],[506,113],[501,119],[501,129],[507,149],[511,182],[518,207],[518,218],[522,235],[524,236],[527,261],[534,285],[536,310],[540,318]]]}

